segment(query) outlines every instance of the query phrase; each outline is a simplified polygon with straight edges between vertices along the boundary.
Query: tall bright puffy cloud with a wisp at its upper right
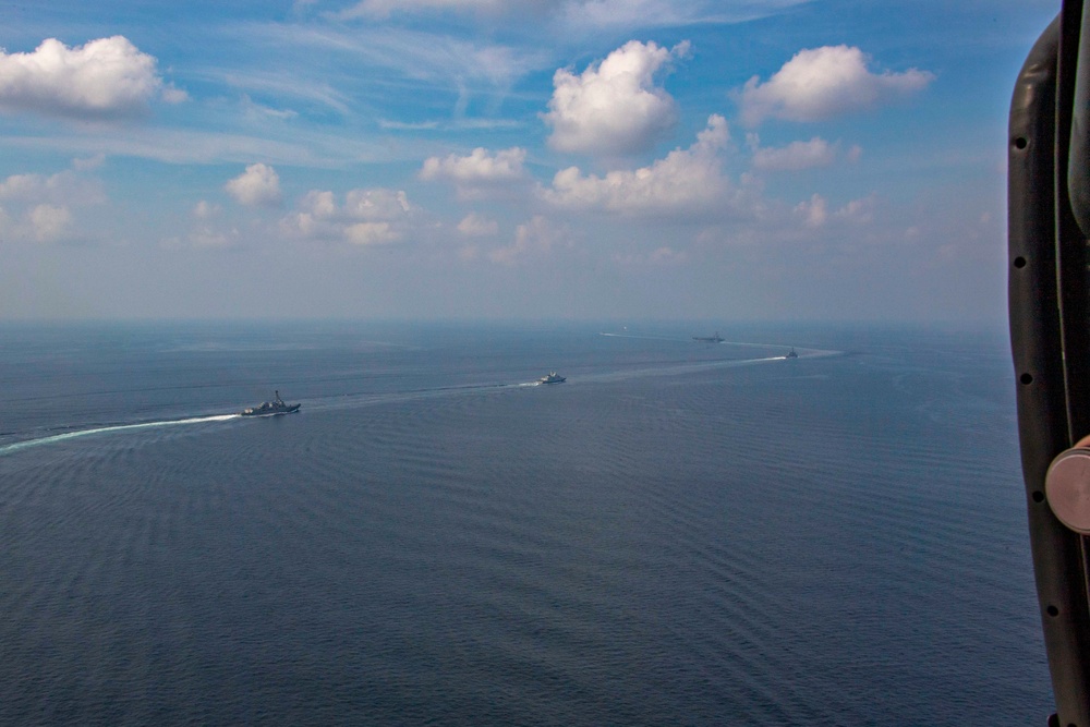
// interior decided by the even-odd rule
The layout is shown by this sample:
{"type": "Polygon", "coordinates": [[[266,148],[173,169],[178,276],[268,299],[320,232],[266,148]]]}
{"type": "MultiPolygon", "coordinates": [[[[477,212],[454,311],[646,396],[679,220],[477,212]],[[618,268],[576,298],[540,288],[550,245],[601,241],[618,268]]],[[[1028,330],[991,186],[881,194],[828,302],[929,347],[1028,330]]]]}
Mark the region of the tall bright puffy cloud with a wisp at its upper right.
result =
{"type": "Polygon", "coordinates": [[[688,51],[688,43],[666,49],[630,40],[580,75],[558,70],[542,117],[553,128],[549,144],[596,156],[647,149],[677,120],[674,98],[655,85],[655,75],[688,51]]]}

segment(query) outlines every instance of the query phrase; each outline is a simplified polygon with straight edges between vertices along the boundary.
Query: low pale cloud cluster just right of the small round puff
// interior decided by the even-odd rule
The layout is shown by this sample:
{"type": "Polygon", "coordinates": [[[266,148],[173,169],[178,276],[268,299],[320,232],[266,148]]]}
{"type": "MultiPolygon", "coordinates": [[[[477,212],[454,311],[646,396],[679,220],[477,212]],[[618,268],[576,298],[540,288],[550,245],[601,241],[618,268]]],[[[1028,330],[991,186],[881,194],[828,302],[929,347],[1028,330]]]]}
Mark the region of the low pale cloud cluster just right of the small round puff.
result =
{"type": "Polygon", "coordinates": [[[404,238],[414,211],[403,191],[351,190],[338,205],[332,192],[312,190],[300,201],[298,211],[280,220],[280,229],[305,240],[382,245],[404,238]]]}

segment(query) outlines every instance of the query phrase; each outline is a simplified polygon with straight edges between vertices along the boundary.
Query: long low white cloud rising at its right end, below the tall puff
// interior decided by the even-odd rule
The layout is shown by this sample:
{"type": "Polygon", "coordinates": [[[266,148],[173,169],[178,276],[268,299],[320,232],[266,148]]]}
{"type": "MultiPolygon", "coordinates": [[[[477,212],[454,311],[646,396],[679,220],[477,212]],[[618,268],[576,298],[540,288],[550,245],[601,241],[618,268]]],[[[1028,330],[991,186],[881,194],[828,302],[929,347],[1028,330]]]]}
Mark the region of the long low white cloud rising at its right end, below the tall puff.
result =
{"type": "Polygon", "coordinates": [[[719,150],[729,141],[727,122],[712,116],[688,149],[634,171],[584,177],[578,167],[557,172],[542,196],[559,207],[602,209],[628,215],[708,210],[727,204],[730,184],[722,172],[719,150]]]}

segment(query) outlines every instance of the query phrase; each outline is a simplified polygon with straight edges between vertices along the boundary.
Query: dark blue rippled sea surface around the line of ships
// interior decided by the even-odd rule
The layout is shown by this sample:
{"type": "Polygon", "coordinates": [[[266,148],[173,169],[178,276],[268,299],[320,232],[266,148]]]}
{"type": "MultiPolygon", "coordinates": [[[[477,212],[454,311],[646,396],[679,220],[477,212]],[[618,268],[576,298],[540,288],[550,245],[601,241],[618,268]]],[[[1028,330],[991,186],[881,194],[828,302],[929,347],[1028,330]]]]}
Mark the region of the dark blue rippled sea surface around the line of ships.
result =
{"type": "Polygon", "coordinates": [[[1005,339],[703,328],[3,326],[0,724],[1043,724],[1005,339]]]}

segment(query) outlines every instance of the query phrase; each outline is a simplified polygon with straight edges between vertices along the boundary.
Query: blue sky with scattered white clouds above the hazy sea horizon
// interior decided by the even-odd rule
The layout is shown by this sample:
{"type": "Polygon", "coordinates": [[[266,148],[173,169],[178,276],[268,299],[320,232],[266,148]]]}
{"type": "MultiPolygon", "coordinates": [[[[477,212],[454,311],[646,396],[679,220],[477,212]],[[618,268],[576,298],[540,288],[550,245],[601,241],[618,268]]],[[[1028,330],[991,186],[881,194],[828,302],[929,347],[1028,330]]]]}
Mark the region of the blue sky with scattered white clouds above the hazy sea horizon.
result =
{"type": "Polygon", "coordinates": [[[0,1],[0,320],[998,325],[1058,10],[0,1]]]}

